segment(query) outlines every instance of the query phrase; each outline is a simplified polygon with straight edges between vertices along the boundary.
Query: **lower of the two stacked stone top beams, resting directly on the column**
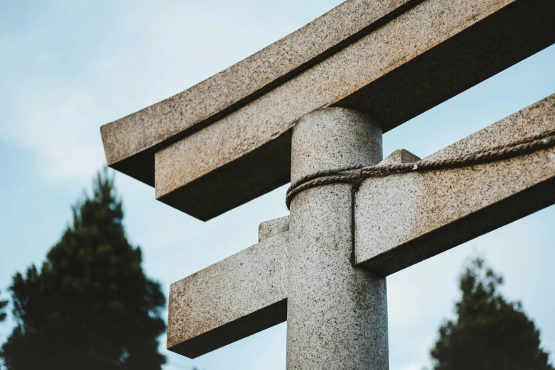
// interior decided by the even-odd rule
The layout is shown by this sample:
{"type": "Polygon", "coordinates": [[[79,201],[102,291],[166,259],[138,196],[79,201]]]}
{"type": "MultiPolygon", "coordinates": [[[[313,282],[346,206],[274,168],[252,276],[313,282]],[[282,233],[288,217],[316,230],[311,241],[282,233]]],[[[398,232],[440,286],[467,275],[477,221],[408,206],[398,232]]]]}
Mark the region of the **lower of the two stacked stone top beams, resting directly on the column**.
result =
{"type": "Polygon", "coordinates": [[[386,132],[554,43],[554,16],[551,0],[422,1],[159,150],[157,198],[213,218],[289,181],[291,128],[306,113],[357,108],[386,132]]]}

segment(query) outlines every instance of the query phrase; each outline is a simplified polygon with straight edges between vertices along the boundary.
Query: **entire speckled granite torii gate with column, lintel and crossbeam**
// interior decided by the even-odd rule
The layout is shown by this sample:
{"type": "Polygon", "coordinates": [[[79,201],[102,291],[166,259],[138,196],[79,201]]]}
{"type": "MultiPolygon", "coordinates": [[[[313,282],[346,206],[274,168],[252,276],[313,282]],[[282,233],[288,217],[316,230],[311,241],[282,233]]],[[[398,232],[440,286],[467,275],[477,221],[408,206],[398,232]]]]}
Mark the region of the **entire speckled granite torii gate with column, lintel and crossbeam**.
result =
{"type": "MultiPolygon", "coordinates": [[[[209,220],[314,172],[555,43],[552,0],[348,0],[101,128],[108,164],[209,220]]],[[[448,124],[448,123],[446,123],[448,124]]],[[[426,160],[555,130],[555,95],[426,160]]],[[[542,139],[548,143],[553,138],[542,139]]],[[[287,321],[287,369],[388,369],[386,276],[555,203],[555,150],[324,184],[259,243],[172,284],[168,348],[198,357],[287,321]]]]}

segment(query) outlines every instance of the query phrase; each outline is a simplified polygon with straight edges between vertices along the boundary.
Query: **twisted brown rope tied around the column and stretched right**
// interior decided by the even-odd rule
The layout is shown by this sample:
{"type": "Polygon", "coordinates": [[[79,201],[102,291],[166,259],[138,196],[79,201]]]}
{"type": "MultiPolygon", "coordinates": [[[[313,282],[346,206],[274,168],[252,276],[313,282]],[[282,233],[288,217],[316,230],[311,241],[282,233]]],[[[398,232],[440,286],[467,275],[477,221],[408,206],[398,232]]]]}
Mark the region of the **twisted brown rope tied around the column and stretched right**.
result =
{"type": "Polygon", "coordinates": [[[555,130],[548,130],[538,135],[532,135],[521,140],[510,142],[509,144],[484,148],[459,157],[437,160],[420,159],[413,163],[381,164],[375,166],[355,164],[353,166],[318,171],[303,176],[301,179],[291,184],[289,189],[287,189],[285,203],[287,208],[289,208],[291,201],[297,194],[316,186],[328,184],[360,184],[364,179],[368,179],[369,177],[383,177],[413,171],[425,172],[432,169],[464,167],[484,162],[495,162],[554,146],[555,130]]]}

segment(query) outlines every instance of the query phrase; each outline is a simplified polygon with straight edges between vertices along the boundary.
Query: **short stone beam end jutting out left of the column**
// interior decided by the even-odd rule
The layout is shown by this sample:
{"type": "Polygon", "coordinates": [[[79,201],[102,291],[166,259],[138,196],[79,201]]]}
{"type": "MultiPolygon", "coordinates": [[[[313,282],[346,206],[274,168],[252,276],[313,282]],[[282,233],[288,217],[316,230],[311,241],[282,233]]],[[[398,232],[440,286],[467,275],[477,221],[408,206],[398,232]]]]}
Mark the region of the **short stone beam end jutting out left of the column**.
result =
{"type": "Polygon", "coordinates": [[[194,358],[287,318],[288,232],[172,284],[167,347],[194,358]]]}

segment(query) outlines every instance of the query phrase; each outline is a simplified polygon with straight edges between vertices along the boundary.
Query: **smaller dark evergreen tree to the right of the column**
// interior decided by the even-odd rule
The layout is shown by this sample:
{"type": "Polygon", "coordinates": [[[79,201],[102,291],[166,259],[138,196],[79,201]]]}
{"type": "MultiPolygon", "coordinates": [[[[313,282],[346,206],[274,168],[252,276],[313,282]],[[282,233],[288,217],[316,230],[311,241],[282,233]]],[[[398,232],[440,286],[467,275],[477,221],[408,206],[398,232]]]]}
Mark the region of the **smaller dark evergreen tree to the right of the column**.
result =
{"type": "Polygon", "coordinates": [[[431,351],[435,370],[554,370],[540,347],[539,330],[498,292],[503,278],[474,259],[461,275],[456,321],[439,328],[431,351]]]}

